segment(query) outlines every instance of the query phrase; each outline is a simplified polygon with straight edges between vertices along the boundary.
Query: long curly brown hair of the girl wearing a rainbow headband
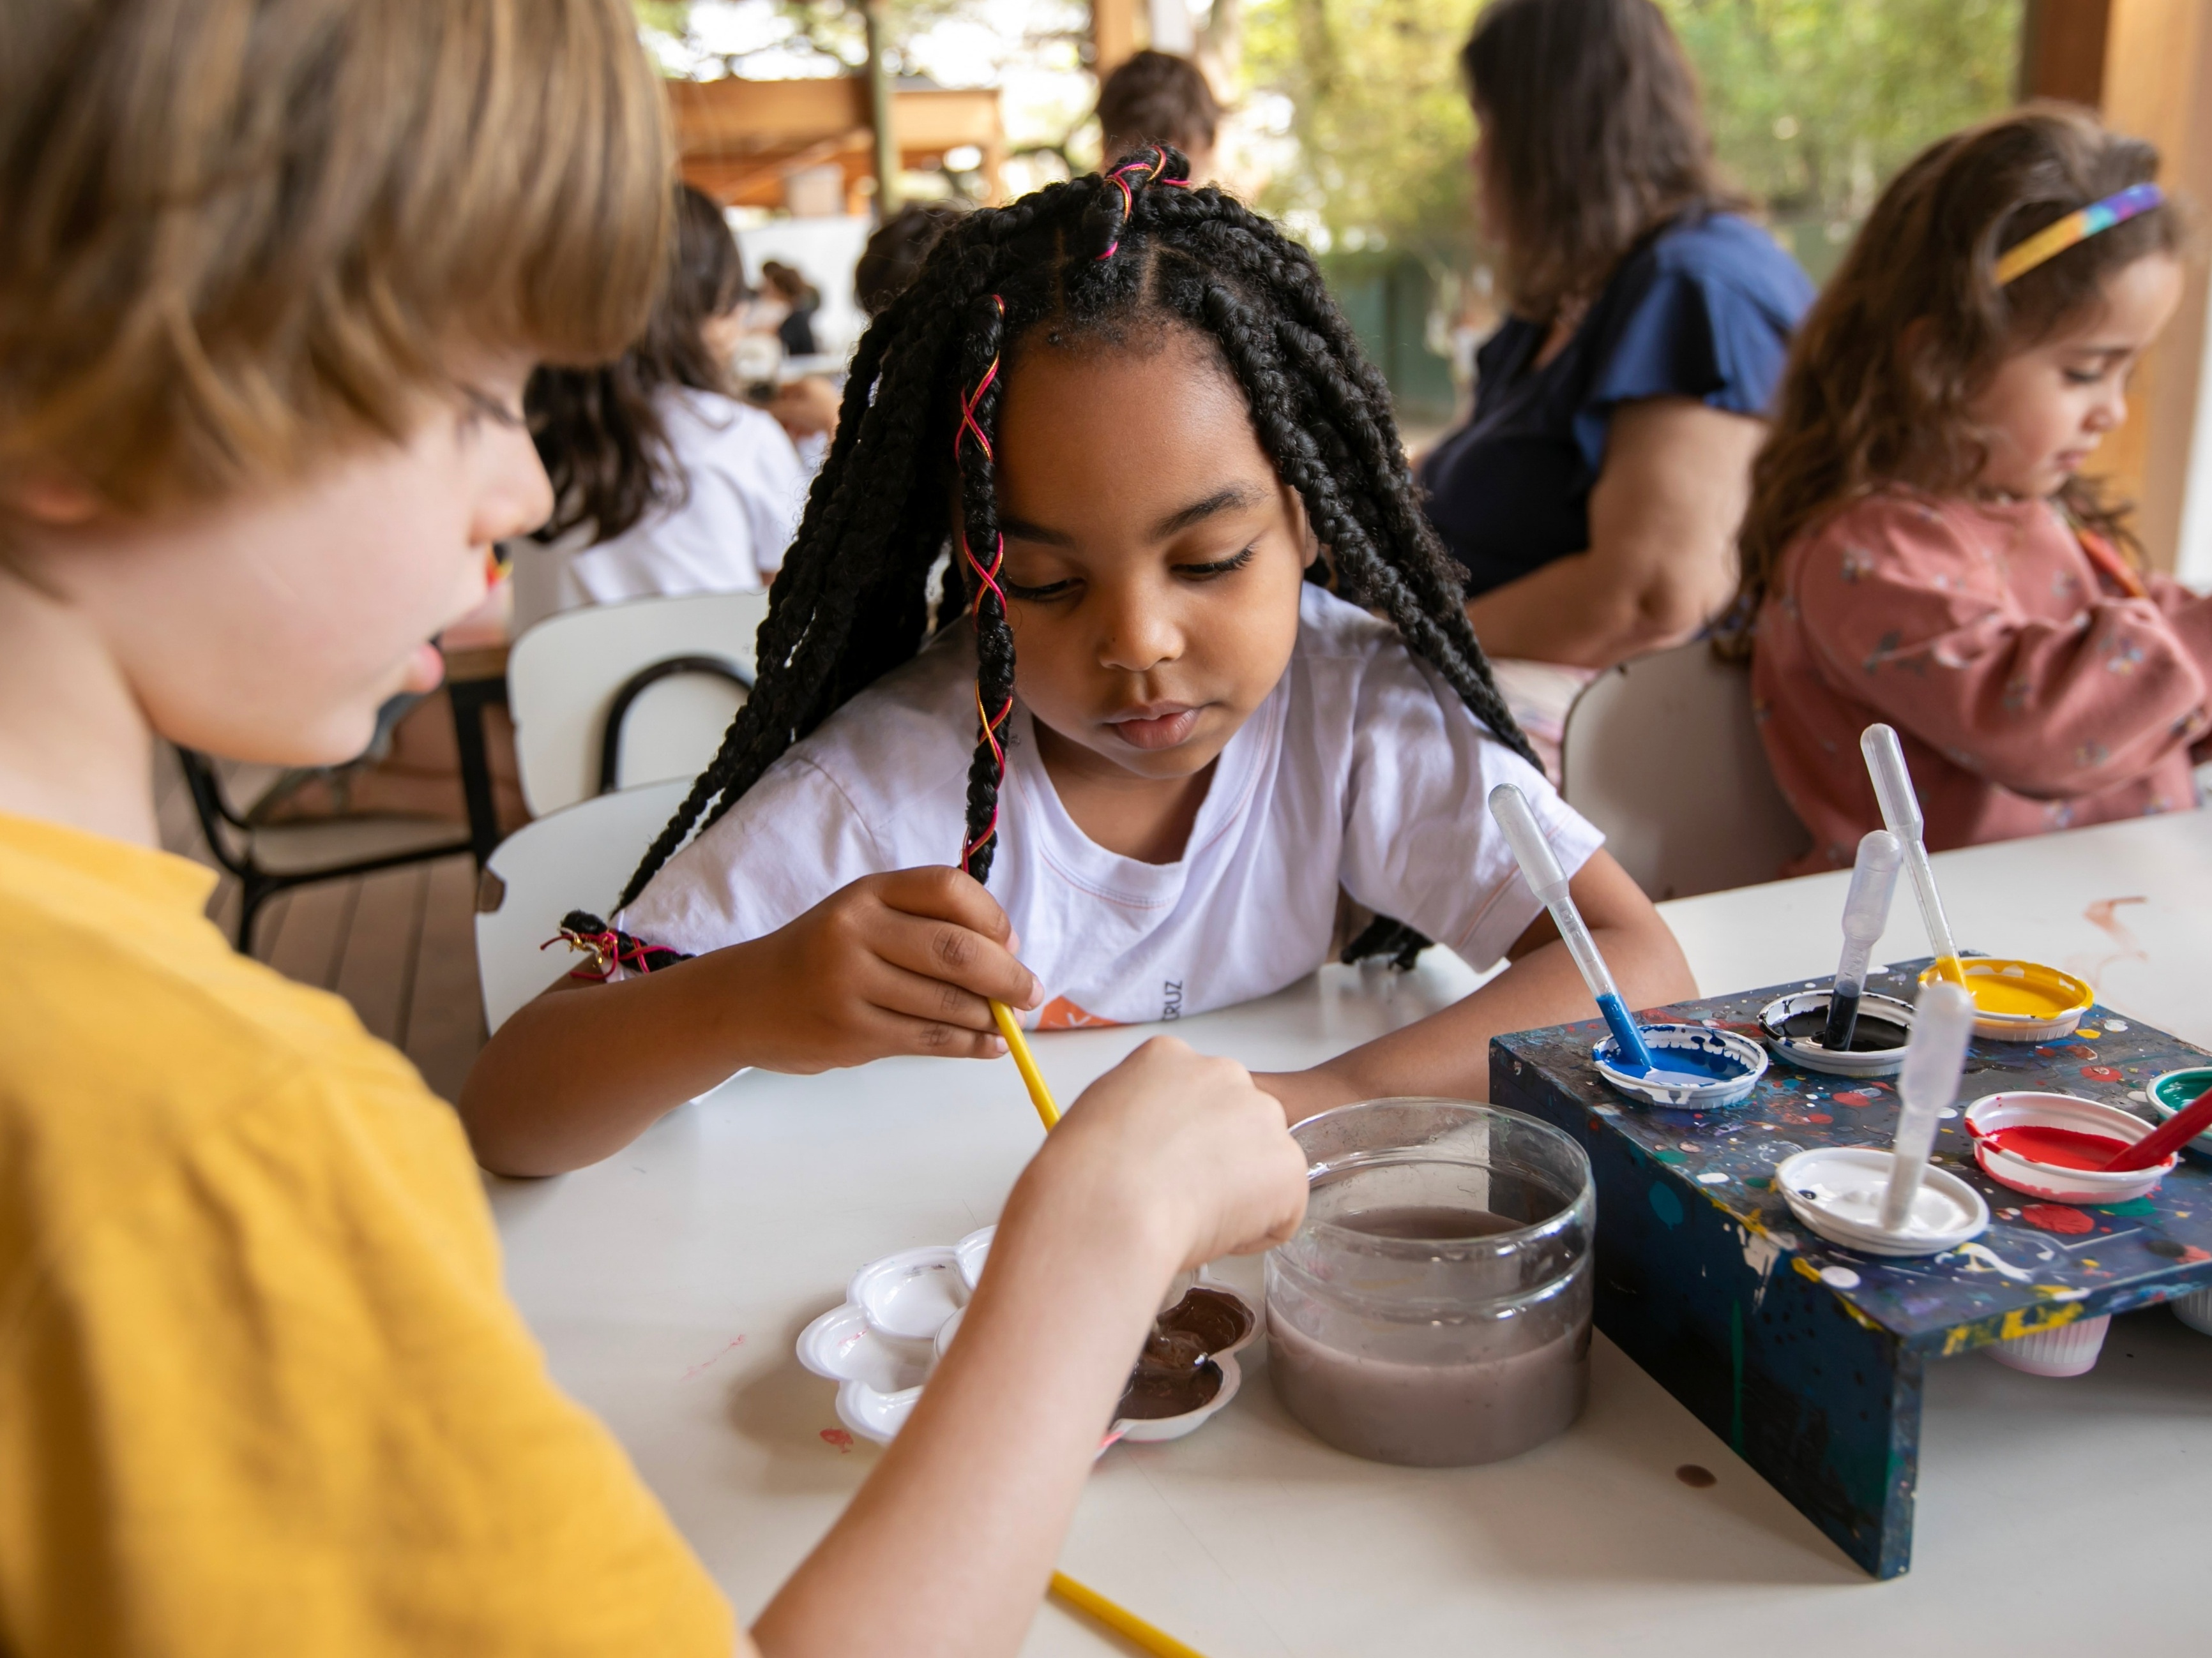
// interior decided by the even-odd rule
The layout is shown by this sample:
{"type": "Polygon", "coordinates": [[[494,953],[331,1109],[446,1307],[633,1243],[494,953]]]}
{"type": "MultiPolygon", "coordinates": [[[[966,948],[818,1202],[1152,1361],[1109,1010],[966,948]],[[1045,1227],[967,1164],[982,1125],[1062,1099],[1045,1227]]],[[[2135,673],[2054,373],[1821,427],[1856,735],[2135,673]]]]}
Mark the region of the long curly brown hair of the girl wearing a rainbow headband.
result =
{"type": "MultiPolygon", "coordinates": [[[[1774,429],[1752,464],[1741,586],[1723,628],[1750,650],[1783,550],[1887,484],[1973,486],[1989,444],[1966,405],[2006,356],[2101,303],[2124,265],[2181,250],[2177,203],[2152,208],[1997,285],[1997,256],[2077,208],[2146,183],[2159,153],[2068,104],[2031,104],[1927,148],[1882,192],[1798,327],[1774,429]]],[[[2070,478],[2059,504],[2132,550],[2126,504],[2070,478]]]]}

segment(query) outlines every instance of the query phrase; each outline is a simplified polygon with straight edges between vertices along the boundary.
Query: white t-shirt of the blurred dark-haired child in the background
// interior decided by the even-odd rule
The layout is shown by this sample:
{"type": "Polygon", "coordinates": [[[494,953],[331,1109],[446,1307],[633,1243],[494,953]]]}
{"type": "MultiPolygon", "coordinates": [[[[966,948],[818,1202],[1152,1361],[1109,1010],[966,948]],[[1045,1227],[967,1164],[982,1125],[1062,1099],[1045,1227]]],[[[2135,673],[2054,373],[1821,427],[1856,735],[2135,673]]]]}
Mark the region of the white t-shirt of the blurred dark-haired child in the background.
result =
{"type": "Polygon", "coordinates": [[[690,493],[611,542],[595,542],[588,524],[551,546],[524,542],[515,553],[515,632],[586,604],[745,592],[768,586],[783,564],[812,478],[776,418],[690,387],[668,387],[657,402],[690,493]]]}

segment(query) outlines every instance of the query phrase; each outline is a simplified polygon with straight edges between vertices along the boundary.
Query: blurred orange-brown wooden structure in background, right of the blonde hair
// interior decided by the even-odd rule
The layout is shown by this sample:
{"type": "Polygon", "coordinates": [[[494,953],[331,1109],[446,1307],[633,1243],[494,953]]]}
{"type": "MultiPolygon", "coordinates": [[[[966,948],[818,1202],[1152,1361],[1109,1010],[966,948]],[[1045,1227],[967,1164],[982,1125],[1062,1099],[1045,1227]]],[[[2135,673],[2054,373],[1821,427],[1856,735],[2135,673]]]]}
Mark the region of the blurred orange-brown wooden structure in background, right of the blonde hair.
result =
{"type": "MultiPolygon", "coordinates": [[[[847,197],[865,199],[876,172],[876,124],[867,80],[672,80],[666,82],[686,183],[730,208],[781,208],[783,181],[836,164],[847,197]]],[[[891,93],[898,164],[936,168],[947,150],[982,150],[984,192],[1000,197],[1006,128],[998,91],[898,88],[891,93]]]]}

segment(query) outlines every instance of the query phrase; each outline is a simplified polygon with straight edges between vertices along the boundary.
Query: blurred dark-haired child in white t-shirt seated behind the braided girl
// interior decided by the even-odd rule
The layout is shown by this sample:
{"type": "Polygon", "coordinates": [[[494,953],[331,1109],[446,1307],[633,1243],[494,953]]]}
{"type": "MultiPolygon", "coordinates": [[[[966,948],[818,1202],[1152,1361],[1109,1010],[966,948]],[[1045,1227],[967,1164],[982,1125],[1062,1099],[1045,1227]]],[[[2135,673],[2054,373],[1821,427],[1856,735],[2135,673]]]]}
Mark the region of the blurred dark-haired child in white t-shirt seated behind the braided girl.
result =
{"type": "Polygon", "coordinates": [[[761,588],[807,473],[785,429],[732,396],[745,267],[721,208],[677,186],[668,281],[644,336],[604,367],[544,367],[526,409],[553,480],[542,546],[515,557],[515,628],[557,610],[761,588]]]}

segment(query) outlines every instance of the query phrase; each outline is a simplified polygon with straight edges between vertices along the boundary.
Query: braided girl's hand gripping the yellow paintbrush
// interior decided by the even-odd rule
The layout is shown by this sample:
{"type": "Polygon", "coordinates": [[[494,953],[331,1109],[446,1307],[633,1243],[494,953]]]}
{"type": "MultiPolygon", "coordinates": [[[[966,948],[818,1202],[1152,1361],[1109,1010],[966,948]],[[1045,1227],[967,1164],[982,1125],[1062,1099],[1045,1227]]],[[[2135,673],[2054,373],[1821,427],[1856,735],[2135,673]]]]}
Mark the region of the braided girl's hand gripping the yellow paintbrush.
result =
{"type": "Polygon", "coordinates": [[[958,869],[900,869],[838,889],[768,937],[706,962],[754,1004],[745,1063],[812,1074],[885,1054],[993,1059],[991,999],[1033,1008],[1006,911],[958,869]]]}

